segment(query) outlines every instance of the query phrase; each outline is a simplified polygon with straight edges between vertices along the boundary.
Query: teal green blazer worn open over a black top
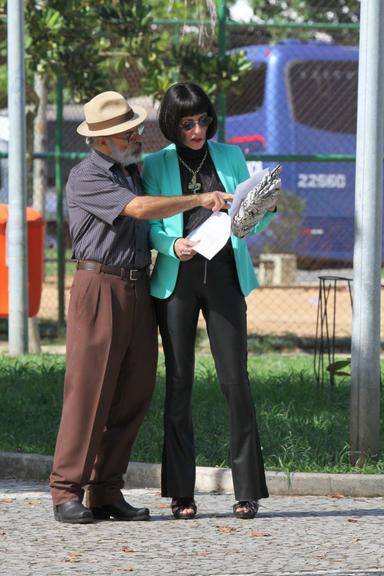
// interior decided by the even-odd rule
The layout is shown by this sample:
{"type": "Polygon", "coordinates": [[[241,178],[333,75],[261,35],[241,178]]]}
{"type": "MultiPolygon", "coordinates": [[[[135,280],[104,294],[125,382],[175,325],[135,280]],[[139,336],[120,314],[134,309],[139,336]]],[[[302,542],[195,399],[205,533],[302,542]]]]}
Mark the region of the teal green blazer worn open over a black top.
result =
{"type": "MultiPolygon", "coordinates": [[[[247,164],[238,146],[208,142],[209,152],[217,173],[227,192],[233,194],[237,184],[249,178],[247,164]]],[[[180,196],[181,180],[179,162],[174,144],[144,158],[143,184],[145,194],[153,196],[180,196]]],[[[267,212],[252,233],[264,230],[274,217],[267,212]]],[[[151,276],[151,294],[168,298],[176,285],[180,260],[173,250],[178,238],[183,237],[183,214],[170,218],[150,220],[151,247],[158,251],[151,276]]],[[[244,239],[231,235],[240,288],[247,296],[258,286],[255,271],[244,239]]]]}

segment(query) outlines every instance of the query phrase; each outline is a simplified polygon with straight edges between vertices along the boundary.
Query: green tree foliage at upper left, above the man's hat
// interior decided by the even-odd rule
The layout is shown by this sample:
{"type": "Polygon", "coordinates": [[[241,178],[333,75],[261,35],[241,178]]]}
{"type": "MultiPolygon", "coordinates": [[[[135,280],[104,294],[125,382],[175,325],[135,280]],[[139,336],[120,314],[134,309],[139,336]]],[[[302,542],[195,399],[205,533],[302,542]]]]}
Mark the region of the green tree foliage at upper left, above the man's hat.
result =
{"type": "MultiPolygon", "coordinates": [[[[6,58],[6,3],[0,0],[0,63],[6,58]]],[[[34,72],[48,82],[61,75],[71,99],[88,97],[105,89],[113,77],[111,46],[132,59],[148,32],[148,15],[142,0],[26,0],[25,49],[27,83],[34,72]]]]}

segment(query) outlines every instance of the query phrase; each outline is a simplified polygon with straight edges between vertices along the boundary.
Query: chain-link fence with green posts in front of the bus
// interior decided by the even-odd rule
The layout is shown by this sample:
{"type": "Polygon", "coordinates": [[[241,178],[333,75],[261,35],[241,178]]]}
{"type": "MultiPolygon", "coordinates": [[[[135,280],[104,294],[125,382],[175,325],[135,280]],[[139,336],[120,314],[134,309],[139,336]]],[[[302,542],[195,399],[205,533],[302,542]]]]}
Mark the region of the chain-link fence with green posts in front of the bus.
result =
{"type": "MultiPolygon", "coordinates": [[[[317,6],[320,4],[326,14],[326,2],[317,6]]],[[[340,14],[345,13],[347,6],[339,4],[340,14]]],[[[334,10],[334,3],[329,9],[334,10]]],[[[339,339],[351,335],[351,299],[343,279],[352,278],[358,25],[350,20],[341,25],[287,21],[243,25],[228,21],[226,25],[225,50],[243,50],[250,67],[241,82],[224,94],[224,138],[241,147],[251,173],[276,163],[283,166],[277,216],[265,232],[248,240],[260,281],[260,288],[247,298],[250,335],[289,337],[313,344],[320,324],[327,320],[319,316],[319,276],[340,278],[328,285],[327,313],[334,317],[330,329],[339,339]]],[[[188,34],[198,32],[196,25],[176,22],[156,24],[157,33],[159,28],[168,31],[173,50],[182,46],[188,34]]],[[[139,71],[131,71],[126,96],[136,94],[141,83],[139,71]]],[[[131,103],[149,111],[144,153],[163,147],[166,141],[157,126],[156,102],[138,96],[131,103]]],[[[55,141],[57,144],[55,112],[54,107],[49,109],[50,152],[55,150],[55,141]]],[[[63,107],[64,186],[71,167],[87,153],[76,133],[82,119],[82,106],[63,107]]],[[[1,162],[4,174],[6,161],[1,162]]],[[[65,320],[74,265],[64,202],[65,275],[60,283],[60,196],[55,159],[44,162],[46,247],[39,318],[54,327],[65,320]],[[60,318],[60,297],[64,318],[60,318]]],[[[4,186],[2,190],[0,201],[5,201],[4,186]]]]}

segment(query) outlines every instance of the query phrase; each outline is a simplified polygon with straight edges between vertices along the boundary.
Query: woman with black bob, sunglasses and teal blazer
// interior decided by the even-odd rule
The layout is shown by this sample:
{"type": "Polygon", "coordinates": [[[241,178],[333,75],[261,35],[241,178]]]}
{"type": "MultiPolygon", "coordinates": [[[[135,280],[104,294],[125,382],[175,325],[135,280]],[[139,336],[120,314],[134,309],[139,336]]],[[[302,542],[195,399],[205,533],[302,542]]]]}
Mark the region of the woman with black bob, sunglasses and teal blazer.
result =
{"type": "MultiPolygon", "coordinates": [[[[233,193],[237,184],[249,178],[240,148],[210,140],[217,117],[200,86],[189,82],[171,86],[161,103],[159,124],[171,144],[144,160],[147,194],[233,193]]],[[[175,518],[195,516],[191,396],[202,311],[229,410],[233,512],[238,518],[254,518],[258,500],[268,497],[247,373],[245,296],[258,284],[244,239],[231,235],[211,260],[196,252],[196,243],[187,239],[211,214],[206,208],[194,208],[150,221],[151,245],[158,252],[151,294],[166,365],[161,490],[162,496],[172,498],[175,518]]],[[[272,211],[267,212],[253,233],[263,230],[272,218],[272,211]]]]}

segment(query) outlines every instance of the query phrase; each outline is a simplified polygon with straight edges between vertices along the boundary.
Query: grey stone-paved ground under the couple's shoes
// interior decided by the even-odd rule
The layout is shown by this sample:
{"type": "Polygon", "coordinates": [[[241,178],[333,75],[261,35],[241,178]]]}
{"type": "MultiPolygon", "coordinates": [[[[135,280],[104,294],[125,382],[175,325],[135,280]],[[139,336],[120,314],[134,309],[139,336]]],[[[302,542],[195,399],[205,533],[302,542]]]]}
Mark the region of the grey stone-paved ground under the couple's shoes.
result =
{"type": "Polygon", "coordinates": [[[176,521],[158,490],[125,491],[150,522],[56,522],[46,483],[0,481],[3,576],[384,575],[384,499],[273,496],[254,520],[230,494],[197,494],[195,520],[176,521]]]}

